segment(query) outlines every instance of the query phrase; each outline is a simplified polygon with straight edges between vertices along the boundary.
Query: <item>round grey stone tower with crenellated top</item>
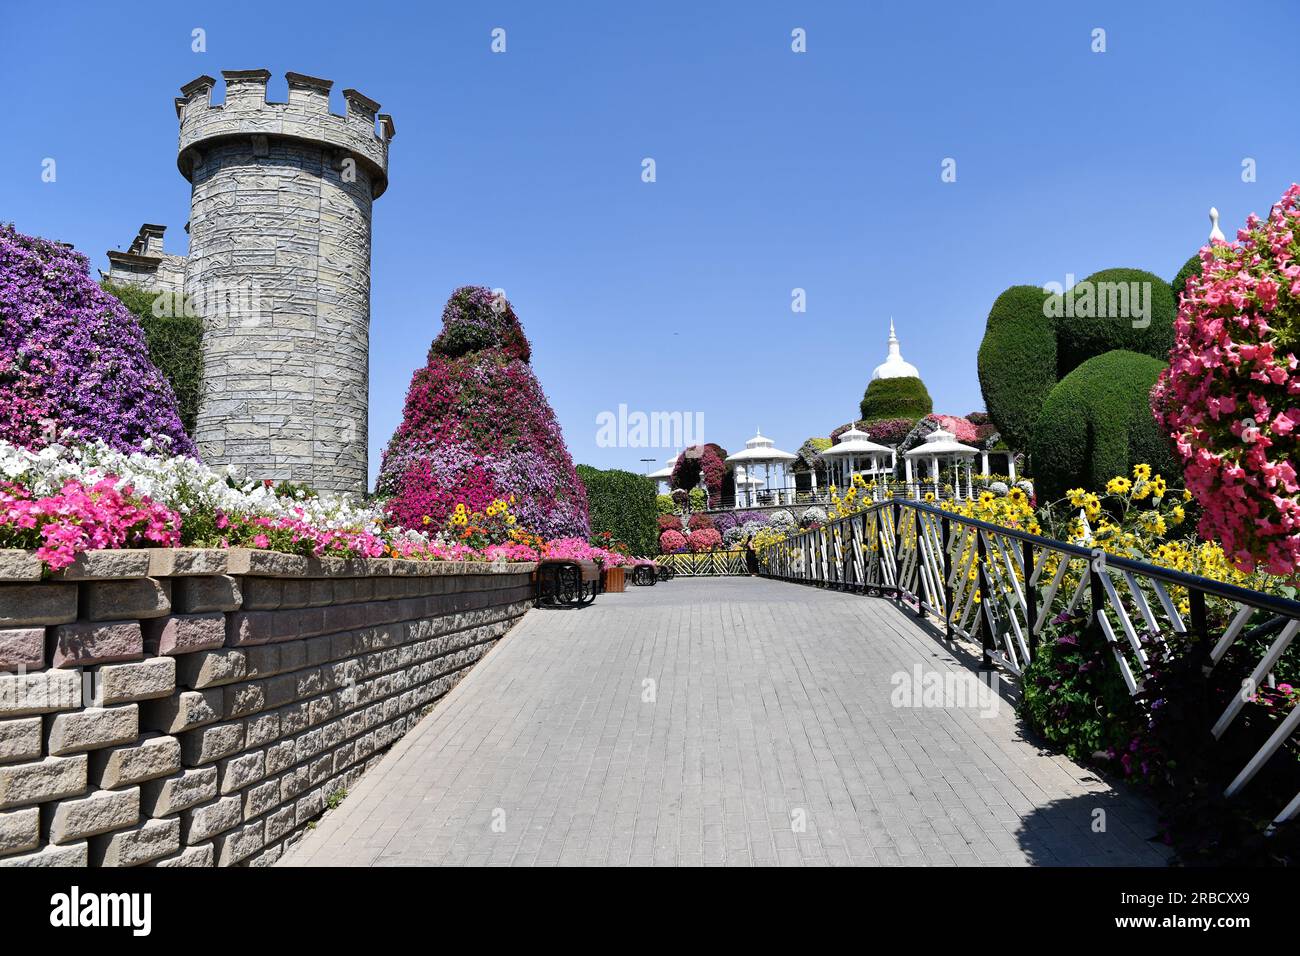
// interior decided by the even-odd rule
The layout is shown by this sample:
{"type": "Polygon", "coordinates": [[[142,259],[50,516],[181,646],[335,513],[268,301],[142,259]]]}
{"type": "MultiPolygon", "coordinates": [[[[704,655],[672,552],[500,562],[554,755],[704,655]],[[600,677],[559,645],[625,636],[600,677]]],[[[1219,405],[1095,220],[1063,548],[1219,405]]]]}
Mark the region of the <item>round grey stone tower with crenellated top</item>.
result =
{"type": "MultiPolygon", "coordinates": [[[[393,118],[330,81],[228,70],[181,88],[177,165],[192,187],[185,291],[204,319],[196,434],[209,464],[317,490],[364,492],[370,206],[387,187],[393,118]],[[378,120],[378,130],[376,129],[378,120]]],[[[110,273],[112,277],[112,273],[110,273]]]]}

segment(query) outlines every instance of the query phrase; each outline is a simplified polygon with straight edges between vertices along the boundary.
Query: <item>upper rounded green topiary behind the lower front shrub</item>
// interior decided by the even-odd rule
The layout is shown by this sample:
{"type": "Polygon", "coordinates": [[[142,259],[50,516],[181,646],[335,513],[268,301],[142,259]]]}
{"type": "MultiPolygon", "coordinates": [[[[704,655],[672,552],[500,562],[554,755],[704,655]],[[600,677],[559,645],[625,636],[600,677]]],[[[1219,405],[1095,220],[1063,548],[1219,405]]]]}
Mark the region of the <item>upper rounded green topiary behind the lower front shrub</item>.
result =
{"type": "Polygon", "coordinates": [[[1045,303],[1056,323],[1057,378],[1088,359],[1123,349],[1169,360],[1174,290],[1143,269],[1102,269],[1045,303]]]}

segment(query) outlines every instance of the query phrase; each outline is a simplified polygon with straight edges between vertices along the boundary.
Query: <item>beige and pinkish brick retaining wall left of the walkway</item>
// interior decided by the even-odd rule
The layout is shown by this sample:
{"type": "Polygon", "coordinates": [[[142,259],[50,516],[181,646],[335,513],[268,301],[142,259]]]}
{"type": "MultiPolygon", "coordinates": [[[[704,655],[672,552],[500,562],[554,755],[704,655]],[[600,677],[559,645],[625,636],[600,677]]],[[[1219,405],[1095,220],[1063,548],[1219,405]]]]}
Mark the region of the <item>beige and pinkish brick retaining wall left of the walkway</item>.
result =
{"type": "Polygon", "coordinates": [[[0,551],[0,866],[265,865],[526,610],[532,564],[0,551]]]}

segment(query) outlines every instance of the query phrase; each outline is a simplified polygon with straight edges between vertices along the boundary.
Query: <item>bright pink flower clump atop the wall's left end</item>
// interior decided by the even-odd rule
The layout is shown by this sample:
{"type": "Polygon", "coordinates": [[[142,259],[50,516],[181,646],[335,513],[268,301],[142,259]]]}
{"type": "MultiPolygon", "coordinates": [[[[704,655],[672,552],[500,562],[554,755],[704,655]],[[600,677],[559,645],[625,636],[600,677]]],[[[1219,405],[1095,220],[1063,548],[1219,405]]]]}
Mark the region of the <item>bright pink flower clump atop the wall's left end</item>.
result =
{"type": "Polygon", "coordinates": [[[53,571],[91,549],[178,544],[181,515],[117,479],[66,481],[43,497],[14,483],[0,486],[0,548],[35,550],[53,571]]]}

